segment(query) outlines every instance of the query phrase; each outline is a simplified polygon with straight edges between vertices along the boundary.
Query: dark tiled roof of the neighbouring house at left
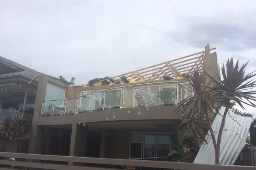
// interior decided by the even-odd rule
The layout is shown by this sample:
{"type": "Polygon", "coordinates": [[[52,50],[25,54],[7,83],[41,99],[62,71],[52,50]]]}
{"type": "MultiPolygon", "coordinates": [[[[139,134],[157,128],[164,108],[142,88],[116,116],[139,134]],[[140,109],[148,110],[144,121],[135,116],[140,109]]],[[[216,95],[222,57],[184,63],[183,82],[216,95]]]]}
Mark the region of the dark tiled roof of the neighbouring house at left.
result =
{"type": "MultiPolygon", "coordinates": [[[[21,77],[24,79],[31,80],[35,77],[37,77],[39,74],[41,74],[38,71],[35,71],[31,68],[28,68],[24,65],[21,65],[17,62],[14,62],[12,60],[6,59],[4,57],[0,56],[0,63],[2,63],[3,67],[0,68],[0,79],[10,79],[10,78],[16,78],[21,77]],[[5,72],[4,70],[9,70],[8,72],[5,72]]],[[[35,79],[34,82],[38,82],[38,79],[35,79]]]]}

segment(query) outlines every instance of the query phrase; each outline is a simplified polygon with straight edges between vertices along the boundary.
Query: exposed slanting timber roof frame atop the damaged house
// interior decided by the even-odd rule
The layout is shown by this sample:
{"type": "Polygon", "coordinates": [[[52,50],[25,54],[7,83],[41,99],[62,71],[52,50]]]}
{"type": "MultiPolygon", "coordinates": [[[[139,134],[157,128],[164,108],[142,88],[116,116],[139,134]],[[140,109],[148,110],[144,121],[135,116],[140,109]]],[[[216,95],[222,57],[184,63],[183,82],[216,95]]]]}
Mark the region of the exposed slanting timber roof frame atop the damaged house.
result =
{"type": "Polygon", "coordinates": [[[198,70],[200,74],[204,74],[204,57],[205,54],[216,48],[210,48],[205,51],[200,51],[195,54],[190,54],[185,57],[173,59],[167,62],[163,62],[157,65],[152,65],[146,68],[142,68],[136,71],[130,71],[125,74],[110,77],[108,79],[102,79],[99,82],[109,79],[115,79],[115,82],[121,81],[121,76],[125,76],[127,79],[134,78],[135,81],[154,81],[163,79],[163,76],[169,77],[181,77],[184,78],[195,70],[198,70]],[[185,73],[185,74],[184,74],[185,73]],[[182,75],[183,74],[183,75],[182,75]],[[118,79],[116,79],[118,78],[118,79]]]}

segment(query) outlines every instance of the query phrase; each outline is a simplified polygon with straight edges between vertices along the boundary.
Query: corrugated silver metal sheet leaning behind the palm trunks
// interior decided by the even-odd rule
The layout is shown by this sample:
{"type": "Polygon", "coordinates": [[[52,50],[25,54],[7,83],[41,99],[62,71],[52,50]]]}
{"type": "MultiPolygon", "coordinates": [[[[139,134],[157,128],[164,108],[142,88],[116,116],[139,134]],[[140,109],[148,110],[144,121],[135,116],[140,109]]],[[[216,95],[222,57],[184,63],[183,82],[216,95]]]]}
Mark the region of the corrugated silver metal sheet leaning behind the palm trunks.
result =
{"type": "MultiPolygon", "coordinates": [[[[222,107],[220,113],[223,115],[224,111],[225,108],[222,107]]],[[[226,117],[220,147],[220,164],[225,165],[232,165],[235,163],[244,147],[252,122],[252,119],[249,117],[239,116],[231,111],[229,113],[230,116],[227,115],[226,117]]],[[[222,116],[217,115],[212,123],[212,129],[214,130],[216,140],[218,138],[218,130],[221,125],[221,120],[222,116]]],[[[208,131],[208,135],[206,136],[208,144],[205,142],[203,143],[194,163],[215,163],[215,150],[212,143],[212,136],[209,134],[210,132],[208,131]]]]}

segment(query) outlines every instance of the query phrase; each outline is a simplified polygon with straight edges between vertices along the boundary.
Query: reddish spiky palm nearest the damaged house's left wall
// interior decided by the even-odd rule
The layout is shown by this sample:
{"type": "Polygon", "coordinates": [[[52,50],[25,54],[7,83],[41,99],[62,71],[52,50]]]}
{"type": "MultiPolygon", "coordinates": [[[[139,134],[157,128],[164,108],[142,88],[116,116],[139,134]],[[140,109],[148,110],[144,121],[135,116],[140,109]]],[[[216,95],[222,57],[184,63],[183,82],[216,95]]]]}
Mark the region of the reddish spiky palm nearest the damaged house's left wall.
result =
{"type": "Polygon", "coordinates": [[[20,140],[26,135],[26,132],[29,130],[29,123],[24,114],[16,114],[14,116],[16,136],[18,139],[17,152],[20,152],[20,140]]]}

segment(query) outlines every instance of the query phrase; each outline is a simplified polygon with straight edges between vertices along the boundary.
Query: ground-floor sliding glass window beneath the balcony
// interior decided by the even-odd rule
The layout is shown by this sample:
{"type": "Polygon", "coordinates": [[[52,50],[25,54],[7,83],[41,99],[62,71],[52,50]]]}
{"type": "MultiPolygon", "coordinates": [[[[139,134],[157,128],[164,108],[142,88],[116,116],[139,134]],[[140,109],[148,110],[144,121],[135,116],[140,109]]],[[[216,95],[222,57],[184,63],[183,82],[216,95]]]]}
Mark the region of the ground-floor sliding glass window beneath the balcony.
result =
{"type": "Polygon", "coordinates": [[[169,134],[131,133],[130,158],[167,156],[170,147],[169,134]]]}

